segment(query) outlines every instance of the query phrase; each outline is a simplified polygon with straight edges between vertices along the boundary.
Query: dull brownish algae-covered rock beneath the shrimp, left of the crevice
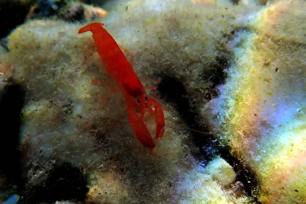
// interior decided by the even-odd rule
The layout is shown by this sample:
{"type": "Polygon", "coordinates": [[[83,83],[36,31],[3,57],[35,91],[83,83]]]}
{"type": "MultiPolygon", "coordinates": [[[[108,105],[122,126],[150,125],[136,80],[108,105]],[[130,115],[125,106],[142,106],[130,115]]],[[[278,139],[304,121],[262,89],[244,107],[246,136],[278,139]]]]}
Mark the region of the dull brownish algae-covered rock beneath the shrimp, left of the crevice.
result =
{"type": "MultiPolygon", "coordinates": [[[[230,33],[232,28],[228,28],[222,17],[223,10],[215,13],[204,6],[194,6],[191,10],[185,6],[192,6],[189,2],[158,4],[165,9],[151,8],[149,1],[145,4],[131,2],[127,11],[123,8],[123,13],[112,13],[104,18],[105,28],[119,44],[135,54],[134,67],[141,79],[172,75],[188,95],[204,96],[216,83],[210,81],[210,76],[214,75],[211,79],[219,76],[215,67],[220,67],[222,73],[223,62],[220,66],[219,54],[224,53],[226,58],[226,48],[222,46],[232,38],[224,37],[224,30],[230,33]],[[187,16],[190,16],[189,21],[186,21],[187,16]],[[194,19],[195,24],[189,23],[194,19]],[[173,22],[180,26],[174,26],[173,22]],[[185,36],[183,41],[180,36],[185,36]],[[194,42],[199,42],[199,46],[194,42]],[[201,89],[205,91],[202,93],[201,89]]],[[[234,16],[234,12],[224,15],[234,16]]],[[[63,21],[33,20],[8,37],[10,51],[1,57],[14,66],[13,79],[27,88],[21,130],[21,150],[26,156],[22,164],[24,177],[30,179],[50,161],[69,161],[74,165],[81,163],[86,169],[89,201],[159,203],[173,200],[173,195],[175,200],[197,199],[182,198],[177,193],[180,189],[188,195],[189,187],[178,186],[176,178],[185,177],[198,164],[190,153],[190,148],[195,151],[191,137],[184,126],[177,124],[180,120],[175,119],[179,118],[175,108],[169,104],[169,110],[164,111],[167,126],[164,137],[157,141],[157,152],[141,152],[130,126],[123,125],[127,113],[121,94],[109,97],[105,106],[98,104],[98,99],[110,88],[90,82],[99,79],[112,83],[112,80],[92,45],[92,36],[78,34],[81,26],[63,21]],[[108,174],[117,181],[109,186],[99,184],[98,181],[108,174]],[[94,186],[105,192],[115,193],[114,186],[121,190],[116,199],[112,199],[111,194],[95,193],[94,186]]],[[[153,122],[147,123],[151,132],[155,129],[153,122]]],[[[39,180],[31,181],[33,186],[39,180]]],[[[207,185],[211,182],[201,184],[203,194],[210,191],[207,185]]],[[[213,185],[221,189],[219,184],[213,185]]]]}

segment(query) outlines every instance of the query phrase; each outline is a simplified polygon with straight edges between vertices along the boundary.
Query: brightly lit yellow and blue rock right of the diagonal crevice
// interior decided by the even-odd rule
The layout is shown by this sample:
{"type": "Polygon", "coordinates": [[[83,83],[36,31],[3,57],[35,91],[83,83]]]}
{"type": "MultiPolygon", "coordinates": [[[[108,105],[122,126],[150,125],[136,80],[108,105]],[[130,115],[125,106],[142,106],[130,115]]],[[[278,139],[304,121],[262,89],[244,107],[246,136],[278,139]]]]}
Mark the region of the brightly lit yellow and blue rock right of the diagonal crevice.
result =
{"type": "Polygon", "coordinates": [[[211,101],[221,143],[254,170],[263,203],[306,200],[303,6],[282,1],[250,17],[234,47],[237,68],[211,101]]]}

